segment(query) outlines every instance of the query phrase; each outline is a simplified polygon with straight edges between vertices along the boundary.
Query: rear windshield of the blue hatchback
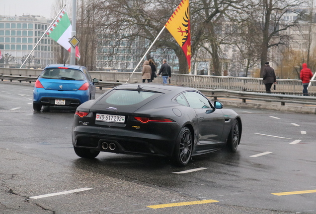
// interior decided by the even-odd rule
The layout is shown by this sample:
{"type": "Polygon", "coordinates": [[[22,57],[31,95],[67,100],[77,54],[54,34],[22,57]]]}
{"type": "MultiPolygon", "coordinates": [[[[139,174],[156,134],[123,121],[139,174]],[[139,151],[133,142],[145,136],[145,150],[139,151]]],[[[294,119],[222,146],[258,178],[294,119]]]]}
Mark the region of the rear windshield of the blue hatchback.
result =
{"type": "Polygon", "coordinates": [[[46,79],[67,79],[67,80],[84,80],[84,74],[77,69],[66,68],[46,68],[41,78],[46,79]]]}

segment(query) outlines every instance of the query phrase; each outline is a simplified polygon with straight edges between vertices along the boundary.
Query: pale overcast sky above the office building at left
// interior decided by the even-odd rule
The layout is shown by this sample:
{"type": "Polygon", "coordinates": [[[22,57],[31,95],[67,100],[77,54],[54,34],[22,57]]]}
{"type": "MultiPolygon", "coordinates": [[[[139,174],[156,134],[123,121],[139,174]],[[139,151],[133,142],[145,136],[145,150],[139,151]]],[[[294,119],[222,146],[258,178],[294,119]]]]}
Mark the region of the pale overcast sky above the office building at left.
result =
{"type": "Polygon", "coordinates": [[[45,18],[56,16],[51,14],[55,0],[0,0],[0,15],[21,16],[40,15],[45,18]]]}

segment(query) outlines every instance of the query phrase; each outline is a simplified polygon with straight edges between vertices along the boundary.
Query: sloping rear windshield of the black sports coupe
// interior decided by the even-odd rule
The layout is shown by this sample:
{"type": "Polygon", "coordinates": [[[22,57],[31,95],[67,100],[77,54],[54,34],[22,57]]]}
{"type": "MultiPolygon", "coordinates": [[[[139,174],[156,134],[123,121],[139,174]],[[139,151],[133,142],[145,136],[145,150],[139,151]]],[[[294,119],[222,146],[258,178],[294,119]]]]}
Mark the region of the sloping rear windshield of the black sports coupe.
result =
{"type": "Polygon", "coordinates": [[[156,92],[149,91],[136,91],[136,90],[113,90],[106,96],[104,96],[100,102],[111,105],[128,106],[141,103],[148,100],[148,102],[155,97],[161,95],[156,92]]]}

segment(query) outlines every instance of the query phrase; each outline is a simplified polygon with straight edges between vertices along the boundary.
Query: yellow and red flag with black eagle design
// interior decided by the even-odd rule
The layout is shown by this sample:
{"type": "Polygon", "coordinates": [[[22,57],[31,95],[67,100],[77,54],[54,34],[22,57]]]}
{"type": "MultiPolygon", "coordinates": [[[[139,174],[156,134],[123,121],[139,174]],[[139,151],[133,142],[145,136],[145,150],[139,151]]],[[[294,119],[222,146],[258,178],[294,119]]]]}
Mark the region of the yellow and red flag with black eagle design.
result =
{"type": "Polygon", "coordinates": [[[189,0],[182,0],[164,25],[182,48],[191,71],[191,33],[189,0]]]}

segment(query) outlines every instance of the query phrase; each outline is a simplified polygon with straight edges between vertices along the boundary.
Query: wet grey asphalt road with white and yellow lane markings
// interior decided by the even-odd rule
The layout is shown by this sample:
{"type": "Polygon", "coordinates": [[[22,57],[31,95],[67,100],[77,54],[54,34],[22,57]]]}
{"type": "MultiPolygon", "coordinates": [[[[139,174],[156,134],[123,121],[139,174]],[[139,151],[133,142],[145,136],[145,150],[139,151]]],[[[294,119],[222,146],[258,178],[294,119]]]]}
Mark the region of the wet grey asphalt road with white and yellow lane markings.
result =
{"type": "Polygon", "coordinates": [[[233,109],[243,124],[236,154],[185,168],[107,153],[84,160],[72,147],[74,109],[33,112],[32,87],[0,83],[0,214],[316,214],[316,115],[233,109]],[[189,169],[200,170],[174,173],[189,169]],[[62,194],[70,190],[82,191],[62,194]],[[148,207],[201,200],[214,202],[148,207]]]}

